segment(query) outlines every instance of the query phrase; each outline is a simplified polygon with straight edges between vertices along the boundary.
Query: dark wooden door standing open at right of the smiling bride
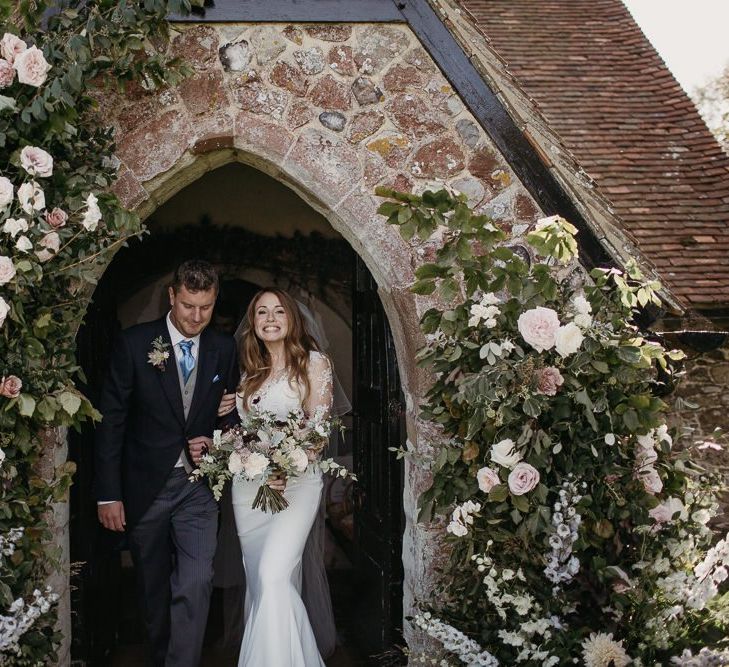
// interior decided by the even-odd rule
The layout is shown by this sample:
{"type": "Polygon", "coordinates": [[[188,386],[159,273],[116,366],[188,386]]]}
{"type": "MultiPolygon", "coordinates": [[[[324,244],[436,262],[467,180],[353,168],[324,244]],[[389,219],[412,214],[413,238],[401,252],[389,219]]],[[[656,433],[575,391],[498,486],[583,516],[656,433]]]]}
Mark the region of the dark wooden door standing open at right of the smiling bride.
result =
{"type": "Polygon", "coordinates": [[[403,473],[389,448],[403,442],[404,411],[390,327],[359,257],[353,305],[358,640],[372,656],[401,642],[403,473]]]}

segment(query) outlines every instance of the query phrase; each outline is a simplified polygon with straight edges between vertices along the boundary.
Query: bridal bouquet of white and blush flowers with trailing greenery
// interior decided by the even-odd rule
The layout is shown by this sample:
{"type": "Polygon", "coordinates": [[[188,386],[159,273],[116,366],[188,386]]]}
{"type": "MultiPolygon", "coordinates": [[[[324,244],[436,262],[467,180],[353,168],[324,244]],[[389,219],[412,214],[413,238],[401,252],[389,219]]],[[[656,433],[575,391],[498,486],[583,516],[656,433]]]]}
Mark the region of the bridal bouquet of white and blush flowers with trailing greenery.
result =
{"type": "Polygon", "coordinates": [[[260,481],[253,509],[275,514],[288,507],[283,493],[268,486],[274,477],[298,477],[312,465],[339,477],[354,477],[334,459],[317,460],[329,443],[338,420],[302,412],[290,412],[285,421],[270,412],[255,411],[245,423],[213,433],[213,447],[203,455],[191,479],[206,477],[216,500],[220,500],[229,479],[260,481]]]}

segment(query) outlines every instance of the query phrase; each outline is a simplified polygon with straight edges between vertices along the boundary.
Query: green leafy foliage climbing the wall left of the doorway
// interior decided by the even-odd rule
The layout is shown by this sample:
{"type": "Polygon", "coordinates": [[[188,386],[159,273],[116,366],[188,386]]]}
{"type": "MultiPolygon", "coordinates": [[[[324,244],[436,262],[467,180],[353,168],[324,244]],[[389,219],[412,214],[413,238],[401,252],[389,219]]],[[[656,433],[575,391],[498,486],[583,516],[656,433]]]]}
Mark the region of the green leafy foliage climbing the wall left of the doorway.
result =
{"type": "MultiPolygon", "coordinates": [[[[0,97],[0,175],[15,188],[13,201],[0,211],[0,225],[22,218],[22,234],[31,244],[16,246],[19,235],[0,233],[0,256],[10,258],[15,275],[0,286],[9,306],[0,328],[0,376],[22,381],[18,396],[0,396],[0,536],[23,528],[12,557],[0,563],[0,614],[18,598],[31,599],[60,556],[50,544],[50,503],[63,500],[73,465],[40,472],[44,442],[58,427],[78,428],[99,415],[74,387],[80,373],[75,335],[90,288],[111,254],[141,233],[138,218],[109,192],[116,179],[114,137],[97,114],[96,98],[108,86],[133,83],[151,90],[174,84],[187,69],[166,54],[170,11],[189,9],[184,0],[92,0],[60,3],[47,25],[41,17],[48,2],[0,2],[0,17],[18,19],[3,33],[19,36],[42,50],[50,65],[40,86],[13,83],[0,97]],[[21,164],[24,147],[42,148],[53,157],[52,174],[31,176],[21,164]],[[23,210],[18,188],[36,182],[45,196],[45,211],[23,210]],[[101,222],[88,215],[98,198],[101,222]],[[51,227],[45,212],[62,209],[68,216],[51,227]],[[43,243],[58,234],[58,251],[42,254],[43,243]],[[39,255],[38,253],[41,252],[39,255]]],[[[52,3],[58,6],[59,3],[52,3]]],[[[59,637],[54,615],[44,614],[5,652],[3,664],[54,662],[59,637]]]]}

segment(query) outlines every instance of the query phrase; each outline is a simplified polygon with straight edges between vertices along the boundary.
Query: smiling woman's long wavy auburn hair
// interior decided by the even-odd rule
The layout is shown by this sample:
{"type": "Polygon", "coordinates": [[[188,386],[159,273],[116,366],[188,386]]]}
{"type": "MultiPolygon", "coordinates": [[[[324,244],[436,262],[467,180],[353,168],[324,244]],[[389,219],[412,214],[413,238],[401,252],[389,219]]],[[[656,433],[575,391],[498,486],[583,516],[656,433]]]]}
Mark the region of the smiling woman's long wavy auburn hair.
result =
{"type": "Polygon", "coordinates": [[[302,402],[307,399],[311,386],[309,385],[309,353],[312,350],[320,352],[316,341],[309,335],[304,325],[301,311],[293,297],[277,287],[267,287],[260,290],[251,299],[246,310],[243,335],[238,344],[240,369],[242,380],[238,387],[238,394],[243,399],[243,405],[248,406],[249,400],[266,379],[271,375],[271,355],[268,353],[263,341],[256,336],[254,326],[256,307],[264,294],[273,294],[278,297],[288,320],[288,331],[284,338],[284,351],[286,355],[286,369],[289,382],[298,382],[304,388],[302,402]]]}

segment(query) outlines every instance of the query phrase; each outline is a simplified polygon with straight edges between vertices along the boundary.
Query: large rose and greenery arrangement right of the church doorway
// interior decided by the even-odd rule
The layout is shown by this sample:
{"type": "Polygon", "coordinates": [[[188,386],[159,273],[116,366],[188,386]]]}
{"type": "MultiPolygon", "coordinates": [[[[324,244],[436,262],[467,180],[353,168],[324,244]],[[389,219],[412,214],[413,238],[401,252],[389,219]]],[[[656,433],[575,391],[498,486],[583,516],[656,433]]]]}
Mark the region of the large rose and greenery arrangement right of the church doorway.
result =
{"type": "Polygon", "coordinates": [[[635,266],[574,280],[557,216],[527,235],[529,262],[463,196],[378,194],[404,238],[437,235],[413,290],[436,304],[419,358],[442,439],[402,452],[432,473],[421,520],[447,517],[449,560],[413,619],[446,657],[422,661],[729,664],[720,480],[666,425],[682,353],[631,323],[660,285],[635,266]]]}

